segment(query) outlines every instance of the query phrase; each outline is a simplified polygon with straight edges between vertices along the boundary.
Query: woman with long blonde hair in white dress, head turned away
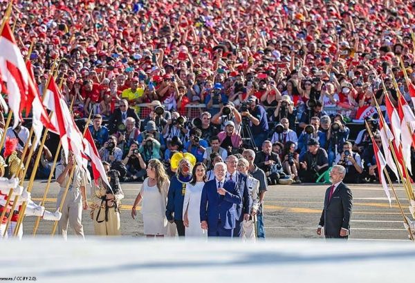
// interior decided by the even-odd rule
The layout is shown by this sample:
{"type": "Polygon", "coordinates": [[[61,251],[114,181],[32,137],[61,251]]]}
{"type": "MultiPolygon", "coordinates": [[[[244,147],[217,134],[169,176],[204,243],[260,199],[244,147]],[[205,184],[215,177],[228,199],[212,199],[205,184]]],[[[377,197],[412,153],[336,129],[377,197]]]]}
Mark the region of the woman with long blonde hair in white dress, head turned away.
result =
{"type": "Polygon", "coordinates": [[[144,222],[144,234],[147,237],[164,237],[167,233],[166,199],[170,181],[163,164],[158,159],[151,159],[147,166],[147,178],[141,186],[131,210],[135,219],[136,208],[142,200],[141,213],[144,222]]]}

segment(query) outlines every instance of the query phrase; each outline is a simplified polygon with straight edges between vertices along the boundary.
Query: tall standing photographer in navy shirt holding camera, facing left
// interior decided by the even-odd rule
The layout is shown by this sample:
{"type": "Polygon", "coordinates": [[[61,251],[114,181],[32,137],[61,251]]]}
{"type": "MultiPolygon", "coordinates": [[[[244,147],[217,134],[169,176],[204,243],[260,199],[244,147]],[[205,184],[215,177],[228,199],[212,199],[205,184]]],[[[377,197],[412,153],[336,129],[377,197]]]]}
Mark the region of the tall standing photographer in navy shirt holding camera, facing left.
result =
{"type": "MultiPolygon", "coordinates": [[[[242,124],[250,127],[254,142],[256,146],[262,144],[268,135],[268,120],[266,118],[266,110],[263,106],[258,105],[258,99],[255,96],[250,96],[246,101],[241,103],[242,124]]],[[[243,130],[243,128],[241,129],[243,130]]]]}

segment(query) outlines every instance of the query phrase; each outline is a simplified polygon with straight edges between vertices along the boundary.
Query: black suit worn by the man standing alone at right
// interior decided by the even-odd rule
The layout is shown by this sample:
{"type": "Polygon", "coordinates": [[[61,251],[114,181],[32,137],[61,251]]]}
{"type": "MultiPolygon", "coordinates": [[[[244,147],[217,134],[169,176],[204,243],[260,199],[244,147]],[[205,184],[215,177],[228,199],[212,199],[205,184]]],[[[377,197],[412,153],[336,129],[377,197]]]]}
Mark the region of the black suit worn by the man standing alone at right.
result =
{"type": "Polygon", "coordinates": [[[324,226],[326,238],[347,238],[340,236],[341,228],[350,229],[351,209],[353,197],[351,190],[343,182],[335,189],[329,202],[330,188],[326,190],[324,208],[319,225],[324,226]]]}

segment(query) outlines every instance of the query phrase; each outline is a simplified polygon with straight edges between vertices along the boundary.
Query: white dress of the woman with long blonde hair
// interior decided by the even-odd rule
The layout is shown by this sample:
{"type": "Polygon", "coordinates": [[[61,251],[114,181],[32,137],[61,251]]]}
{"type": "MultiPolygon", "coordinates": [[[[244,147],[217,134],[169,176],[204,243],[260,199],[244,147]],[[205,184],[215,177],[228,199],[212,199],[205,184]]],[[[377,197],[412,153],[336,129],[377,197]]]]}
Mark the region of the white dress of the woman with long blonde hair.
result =
{"type": "Polygon", "coordinates": [[[149,186],[149,178],[142,183],[140,195],[142,197],[141,213],[144,222],[145,235],[166,235],[166,199],[170,182],[167,180],[158,191],[157,184],[149,186]]]}

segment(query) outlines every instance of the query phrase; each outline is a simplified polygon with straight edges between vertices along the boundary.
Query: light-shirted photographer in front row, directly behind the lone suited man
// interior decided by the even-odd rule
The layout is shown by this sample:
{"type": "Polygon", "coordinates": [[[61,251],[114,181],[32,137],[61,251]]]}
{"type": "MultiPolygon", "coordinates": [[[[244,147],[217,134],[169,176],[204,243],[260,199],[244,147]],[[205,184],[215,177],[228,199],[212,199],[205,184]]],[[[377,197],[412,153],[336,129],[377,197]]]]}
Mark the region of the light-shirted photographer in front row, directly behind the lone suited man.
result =
{"type": "Polygon", "coordinates": [[[360,183],[362,181],[363,164],[358,153],[351,150],[351,142],[344,142],[343,152],[335,157],[335,164],[346,168],[344,183],[360,183]]]}

